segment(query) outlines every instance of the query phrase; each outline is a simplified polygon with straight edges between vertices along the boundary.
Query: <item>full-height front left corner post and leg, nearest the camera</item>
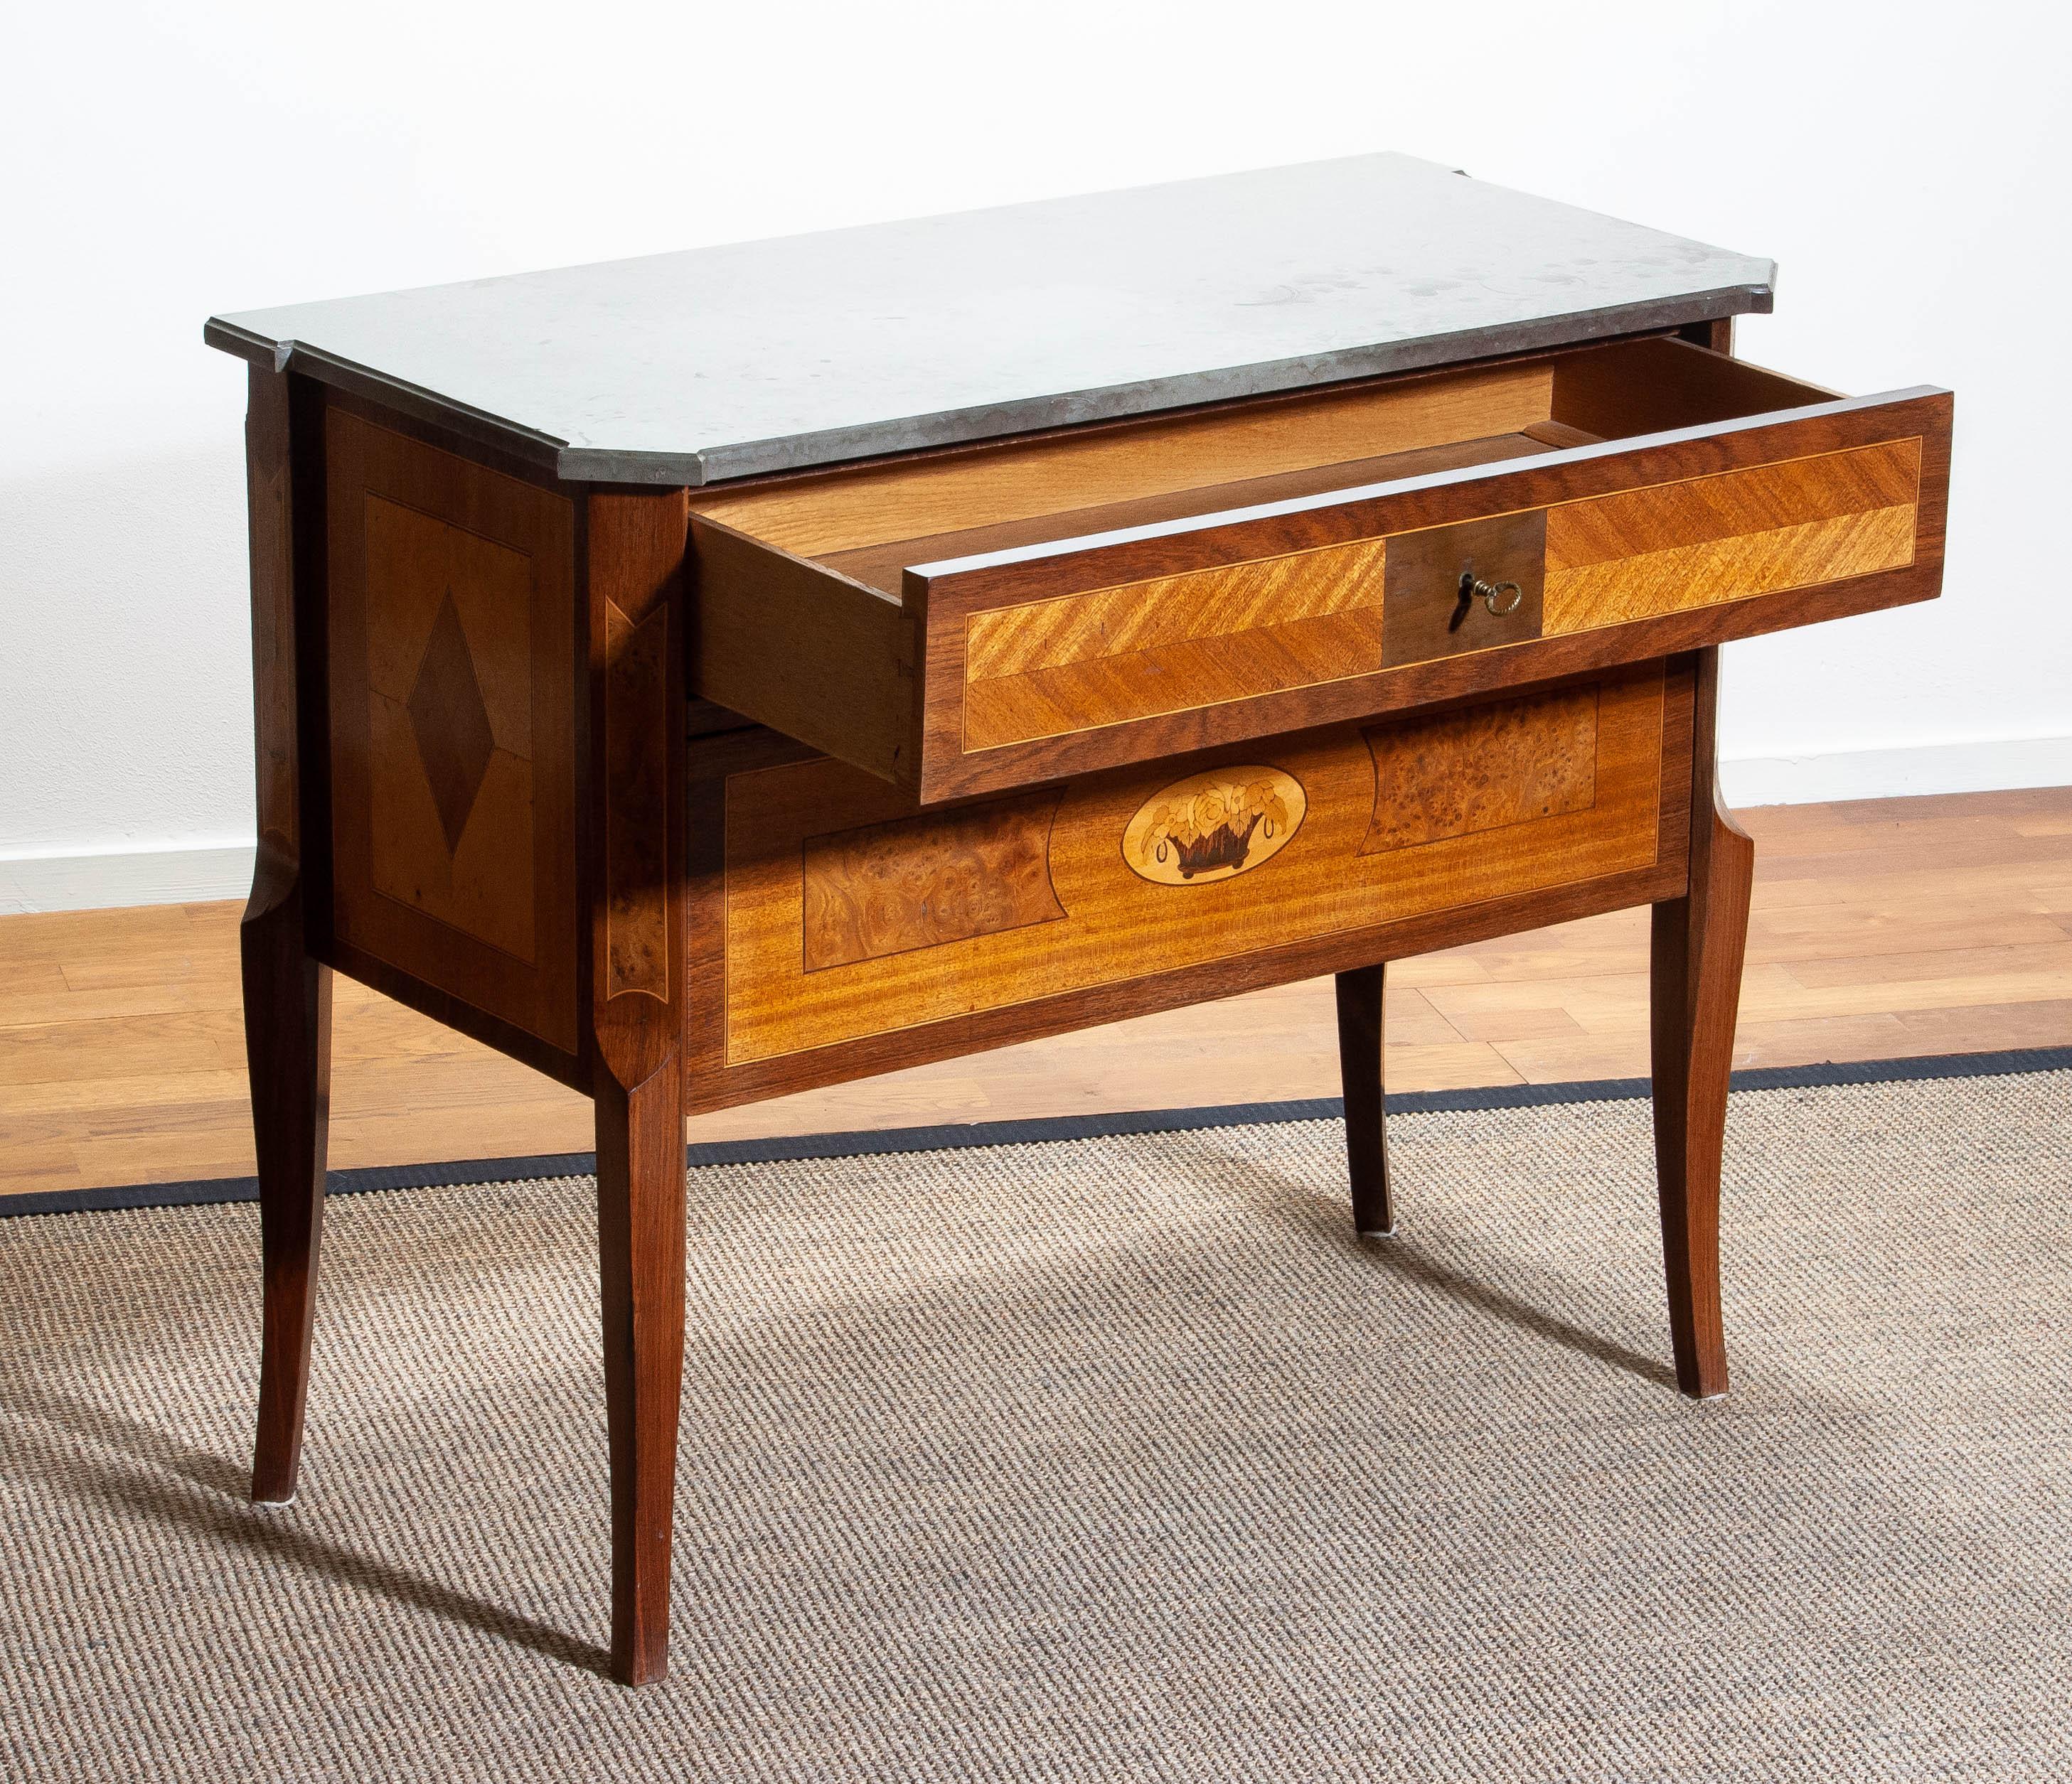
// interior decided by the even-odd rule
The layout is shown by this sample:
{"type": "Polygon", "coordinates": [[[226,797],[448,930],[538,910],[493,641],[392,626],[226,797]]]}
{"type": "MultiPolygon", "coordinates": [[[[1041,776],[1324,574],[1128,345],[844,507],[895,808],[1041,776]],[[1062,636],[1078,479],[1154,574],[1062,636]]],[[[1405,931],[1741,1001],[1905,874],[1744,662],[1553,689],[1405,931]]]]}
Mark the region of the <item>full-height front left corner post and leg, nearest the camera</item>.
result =
{"type": "Polygon", "coordinates": [[[584,497],[586,885],[611,1444],[611,1670],[669,1664],[684,1380],[686,491],[584,497]]]}

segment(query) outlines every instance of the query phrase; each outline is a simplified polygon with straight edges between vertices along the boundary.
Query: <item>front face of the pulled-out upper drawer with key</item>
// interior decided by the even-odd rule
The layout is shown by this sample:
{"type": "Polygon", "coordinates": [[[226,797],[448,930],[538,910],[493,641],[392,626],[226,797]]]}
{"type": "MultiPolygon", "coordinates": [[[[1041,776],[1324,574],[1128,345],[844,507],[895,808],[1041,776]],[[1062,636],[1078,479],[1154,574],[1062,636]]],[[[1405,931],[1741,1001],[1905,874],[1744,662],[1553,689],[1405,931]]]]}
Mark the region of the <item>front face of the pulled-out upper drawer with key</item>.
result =
{"type": "Polygon", "coordinates": [[[908,576],[924,613],[920,792],[1021,785],[1927,599],[1948,439],[1948,396],[1838,402],[926,566],[908,576]]]}

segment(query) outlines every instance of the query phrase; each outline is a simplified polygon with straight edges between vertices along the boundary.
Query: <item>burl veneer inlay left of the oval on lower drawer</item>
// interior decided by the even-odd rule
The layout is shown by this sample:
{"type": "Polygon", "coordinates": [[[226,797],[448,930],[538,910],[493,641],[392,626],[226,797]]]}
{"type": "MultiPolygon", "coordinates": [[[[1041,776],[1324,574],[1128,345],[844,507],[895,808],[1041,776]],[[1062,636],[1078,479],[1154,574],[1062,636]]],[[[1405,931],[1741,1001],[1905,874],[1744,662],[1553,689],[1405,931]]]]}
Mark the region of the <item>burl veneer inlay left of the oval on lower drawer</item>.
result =
{"type": "Polygon", "coordinates": [[[1057,922],[1059,794],[806,837],[806,972],[1057,922]]]}

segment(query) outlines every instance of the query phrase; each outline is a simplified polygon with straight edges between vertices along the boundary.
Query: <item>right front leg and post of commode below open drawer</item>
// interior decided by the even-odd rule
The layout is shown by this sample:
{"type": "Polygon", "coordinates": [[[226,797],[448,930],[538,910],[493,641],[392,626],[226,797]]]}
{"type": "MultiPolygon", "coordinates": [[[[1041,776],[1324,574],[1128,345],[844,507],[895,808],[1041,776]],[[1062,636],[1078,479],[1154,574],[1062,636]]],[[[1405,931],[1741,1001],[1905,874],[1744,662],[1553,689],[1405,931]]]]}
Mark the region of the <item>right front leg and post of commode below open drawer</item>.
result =
{"type": "Polygon", "coordinates": [[[1656,1183],[1676,1386],[1726,1392],[1720,1320],[1720,1154],[1734,1069],[1734,1015],[1749,943],[1755,843],[1720,800],[1720,651],[1697,657],[1691,746],[1691,883],[1653,908],[1651,1042],[1656,1183]]]}

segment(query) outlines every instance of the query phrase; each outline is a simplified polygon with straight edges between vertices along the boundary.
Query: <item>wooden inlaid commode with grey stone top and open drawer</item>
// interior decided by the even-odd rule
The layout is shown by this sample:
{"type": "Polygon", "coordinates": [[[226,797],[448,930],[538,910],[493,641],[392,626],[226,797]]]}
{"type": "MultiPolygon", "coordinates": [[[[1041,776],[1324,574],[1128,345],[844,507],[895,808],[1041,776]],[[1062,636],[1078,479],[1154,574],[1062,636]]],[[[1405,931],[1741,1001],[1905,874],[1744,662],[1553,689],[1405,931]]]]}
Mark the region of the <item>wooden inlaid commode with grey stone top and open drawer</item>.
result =
{"type": "MultiPolygon", "coordinates": [[[[1653,905],[1670,1334],[1726,1388],[1718,644],[1937,593],[1950,396],[1772,267],[1401,155],[220,317],[247,423],[294,1492],[329,976],[597,1104],[611,1656],[657,1678],[684,1117],[1653,905]]],[[[1202,1312],[1204,1320],[1216,1318],[1202,1312]]]]}

